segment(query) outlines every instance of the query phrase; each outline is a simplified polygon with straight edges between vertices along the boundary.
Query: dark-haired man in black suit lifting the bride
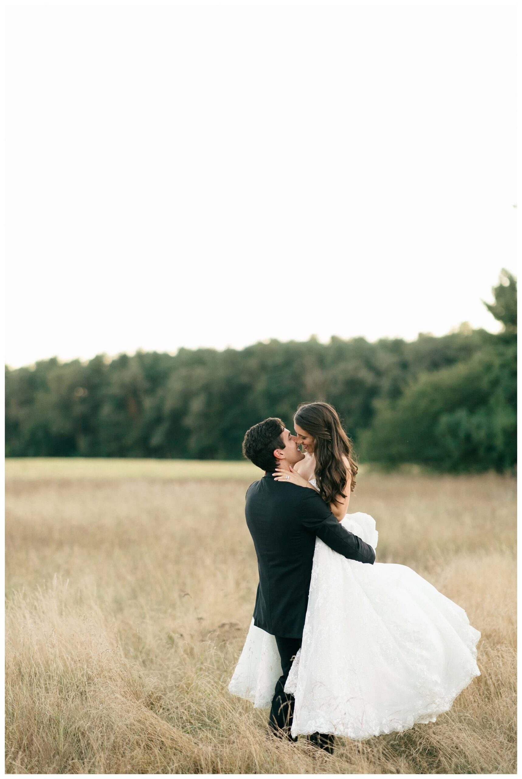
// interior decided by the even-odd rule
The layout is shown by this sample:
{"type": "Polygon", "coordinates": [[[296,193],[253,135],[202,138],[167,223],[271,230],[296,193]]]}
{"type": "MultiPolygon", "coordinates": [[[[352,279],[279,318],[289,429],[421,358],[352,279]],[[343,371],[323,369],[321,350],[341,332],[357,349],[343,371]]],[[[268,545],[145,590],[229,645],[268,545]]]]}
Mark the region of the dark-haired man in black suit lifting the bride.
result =
{"type": "MultiPolygon", "coordinates": [[[[294,466],[304,457],[280,419],[265,419],[247,430],[243,455],[266,471],[247,490],[245,515],[259,570],[254,625],[275,636],[281,657],[282,676],[275,686],[268,726],[273,735],[296,741],[290,735],[294,697],[284,688],[303,640],[315,538],[359,562],[373,564],[375,552],[338,523],[314,489],[275,481],[275,467],[294,466]]],[[[333,735],[314,733],[307,738],[333,753],[333,735]]]]}

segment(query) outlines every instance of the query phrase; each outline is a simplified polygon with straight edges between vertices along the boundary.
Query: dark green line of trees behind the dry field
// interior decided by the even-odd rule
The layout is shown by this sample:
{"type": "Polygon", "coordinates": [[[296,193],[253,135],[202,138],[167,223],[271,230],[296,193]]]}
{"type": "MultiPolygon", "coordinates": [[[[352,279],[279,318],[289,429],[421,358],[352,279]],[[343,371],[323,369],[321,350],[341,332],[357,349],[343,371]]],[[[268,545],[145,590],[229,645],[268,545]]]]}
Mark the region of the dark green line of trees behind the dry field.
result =
{"type": "MultiPolygon", "coordinates": [[[[485,303],[501,333],[271,340],[5,369],[6,456],[237,460],[255,422],[292,428],[301,401],[338,410],[360,461],[454,473],[517,461],[517,280],[485,303]]],[[[443,301],[441,301],[443,305],[443,301]]]]}

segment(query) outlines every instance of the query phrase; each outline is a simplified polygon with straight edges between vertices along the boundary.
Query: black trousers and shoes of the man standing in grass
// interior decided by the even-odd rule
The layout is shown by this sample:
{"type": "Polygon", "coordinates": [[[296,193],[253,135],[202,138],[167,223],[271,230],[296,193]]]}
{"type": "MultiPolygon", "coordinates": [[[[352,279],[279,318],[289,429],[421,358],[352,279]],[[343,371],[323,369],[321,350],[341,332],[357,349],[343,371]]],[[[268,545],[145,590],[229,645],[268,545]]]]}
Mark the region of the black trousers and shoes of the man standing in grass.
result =
{"type": "MultiPolygon", "coordinates": [[[[293,695],[289,695],[289,693],[285,692],[285,685],[293,658],[300,649],[302,641],[302,638],[282,638],[282,636],[275,636],[275,643],[277,643],[279,657],[281,657],[282,676],[279,677],[278,682],[275,685],[275,694],[270,709],[270,717],[268,718],[268,727],[271,728],[274,735],[288,738],[289,741],[297,741],[297,738],[292,738],[290,735],[295,699],[293,695]]],[[[312,733],[312,735],[307,736],[307,740],[316,746],[320,746],[321,749],[326,749],[326,751],[331,754],[334,752],[335,737],[329,733],[312,733]]]]}

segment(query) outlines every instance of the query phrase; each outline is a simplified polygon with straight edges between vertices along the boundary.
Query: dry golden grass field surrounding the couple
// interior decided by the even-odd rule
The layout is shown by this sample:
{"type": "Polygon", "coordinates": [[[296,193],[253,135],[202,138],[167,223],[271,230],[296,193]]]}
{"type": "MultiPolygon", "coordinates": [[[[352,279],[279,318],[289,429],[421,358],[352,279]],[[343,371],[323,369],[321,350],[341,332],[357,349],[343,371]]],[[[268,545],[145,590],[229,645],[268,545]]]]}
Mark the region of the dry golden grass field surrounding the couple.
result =
{"type": "Polygon", "coordinates": [[[465,608],[482,675],[435,723],[329,756],[268,741],[268,712],[226,689],[257,587],[255,469],[83,463],[6,464],[7,773],[516,773],[513,478],[361,474],[349,510],[376,518],[377,560],[465,608]]]}

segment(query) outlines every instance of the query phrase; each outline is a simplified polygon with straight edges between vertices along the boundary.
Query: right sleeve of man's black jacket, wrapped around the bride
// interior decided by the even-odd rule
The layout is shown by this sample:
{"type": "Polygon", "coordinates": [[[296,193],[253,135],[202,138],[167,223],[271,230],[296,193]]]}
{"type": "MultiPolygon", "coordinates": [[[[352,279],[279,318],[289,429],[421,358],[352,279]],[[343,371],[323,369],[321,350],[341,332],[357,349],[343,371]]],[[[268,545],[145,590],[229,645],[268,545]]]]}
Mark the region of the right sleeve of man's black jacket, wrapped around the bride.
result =
{"type": "Polygon", "coordinates": [[[331,513],[320,495],[311,489],[303,489],[300,516],[304,527],[321,538],[331,549],[349,560],[375,562],[375,550],[362,538],[350,533],[331,513]]]}

